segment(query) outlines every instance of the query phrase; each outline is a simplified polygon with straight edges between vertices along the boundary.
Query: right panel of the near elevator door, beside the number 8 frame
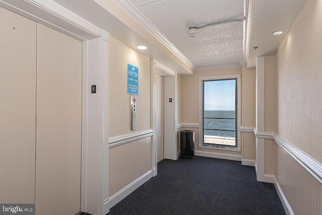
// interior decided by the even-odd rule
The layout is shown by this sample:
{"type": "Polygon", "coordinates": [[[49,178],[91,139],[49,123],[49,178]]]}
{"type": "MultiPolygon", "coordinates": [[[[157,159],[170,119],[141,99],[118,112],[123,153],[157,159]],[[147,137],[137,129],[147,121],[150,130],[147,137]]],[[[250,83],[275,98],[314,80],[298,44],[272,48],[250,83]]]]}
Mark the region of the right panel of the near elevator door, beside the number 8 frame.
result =
{"type": "Polygon", "coordinates": [[[37,24],[36,213],[81,209],[82,42],[37,24]]]}

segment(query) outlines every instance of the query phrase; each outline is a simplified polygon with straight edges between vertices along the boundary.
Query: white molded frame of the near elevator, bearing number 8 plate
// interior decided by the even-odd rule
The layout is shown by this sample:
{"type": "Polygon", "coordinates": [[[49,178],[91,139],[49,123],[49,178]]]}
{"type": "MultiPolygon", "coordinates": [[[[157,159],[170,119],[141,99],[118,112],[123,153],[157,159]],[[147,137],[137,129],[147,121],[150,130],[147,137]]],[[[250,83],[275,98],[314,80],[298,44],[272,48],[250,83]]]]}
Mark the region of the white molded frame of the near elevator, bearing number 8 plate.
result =
{"type": "Polygon", "coordinates": [[[0,0],[0,7],[83,42],[81,211],[106,214],[109,33],[55,2],[0,0]]]}

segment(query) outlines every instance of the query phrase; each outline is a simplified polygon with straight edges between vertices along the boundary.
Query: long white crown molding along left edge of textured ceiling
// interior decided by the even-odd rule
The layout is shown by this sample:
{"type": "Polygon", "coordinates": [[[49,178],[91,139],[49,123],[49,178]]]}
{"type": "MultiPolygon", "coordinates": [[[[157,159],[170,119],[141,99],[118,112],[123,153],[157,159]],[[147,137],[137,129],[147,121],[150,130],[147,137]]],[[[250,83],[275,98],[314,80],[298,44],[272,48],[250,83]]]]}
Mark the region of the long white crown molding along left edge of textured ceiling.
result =
{"type": "Polygon", "coordinates": [[[139,12],[130,2],[121,0],[112,0],[118,7],[127,13],[133,20],[140,24],[147,32],[153,35],[162,45],[170,50],[177,58],[184,62],[190,69],[195,70],[196,66],[163,34],[161,34],[156,27],[149,22],[146,17],[139,12]]]}

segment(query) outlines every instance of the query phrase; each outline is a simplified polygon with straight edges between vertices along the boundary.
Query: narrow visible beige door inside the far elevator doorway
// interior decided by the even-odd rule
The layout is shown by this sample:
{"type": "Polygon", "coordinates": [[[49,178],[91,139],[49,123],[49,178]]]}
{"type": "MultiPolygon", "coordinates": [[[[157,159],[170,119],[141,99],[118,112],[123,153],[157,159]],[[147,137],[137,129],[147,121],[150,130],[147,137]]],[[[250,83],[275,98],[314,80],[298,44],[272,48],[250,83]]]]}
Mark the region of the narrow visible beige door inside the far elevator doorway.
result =
{"type": "Polygon", "coordinates": [[[155,75],[156,83],[156,150],[157,150],[157,162],[164,159],[165,144],[164,144],[164,85],[165,78],[161,75],[155,75]]]}

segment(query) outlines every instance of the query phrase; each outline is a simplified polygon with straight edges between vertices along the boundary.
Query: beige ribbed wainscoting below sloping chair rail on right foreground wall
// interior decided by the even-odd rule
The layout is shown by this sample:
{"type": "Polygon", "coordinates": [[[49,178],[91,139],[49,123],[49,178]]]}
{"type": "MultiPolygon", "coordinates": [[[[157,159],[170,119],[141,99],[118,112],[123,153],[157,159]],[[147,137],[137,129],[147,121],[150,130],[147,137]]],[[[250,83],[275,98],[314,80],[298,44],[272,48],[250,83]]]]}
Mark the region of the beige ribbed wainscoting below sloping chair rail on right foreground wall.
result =
{"type": "Polygon", "coordinates": [[[277,146],[275,177],[289,214],[322,214],[322,183],[283,147],[277,146]]]}

